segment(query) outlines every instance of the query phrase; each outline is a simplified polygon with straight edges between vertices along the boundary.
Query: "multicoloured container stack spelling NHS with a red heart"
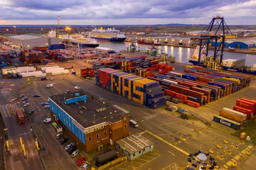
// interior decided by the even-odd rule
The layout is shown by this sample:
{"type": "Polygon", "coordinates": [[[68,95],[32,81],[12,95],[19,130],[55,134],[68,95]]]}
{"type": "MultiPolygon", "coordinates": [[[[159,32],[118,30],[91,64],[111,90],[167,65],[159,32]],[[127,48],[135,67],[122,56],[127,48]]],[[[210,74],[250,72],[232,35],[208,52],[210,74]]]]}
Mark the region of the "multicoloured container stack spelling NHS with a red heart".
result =
{"type": "Polygon", "coordinates": [[[166,105],[166,97],[157,81],[115,69],[97,69],[96,85],[152,109],[166,105]]]}

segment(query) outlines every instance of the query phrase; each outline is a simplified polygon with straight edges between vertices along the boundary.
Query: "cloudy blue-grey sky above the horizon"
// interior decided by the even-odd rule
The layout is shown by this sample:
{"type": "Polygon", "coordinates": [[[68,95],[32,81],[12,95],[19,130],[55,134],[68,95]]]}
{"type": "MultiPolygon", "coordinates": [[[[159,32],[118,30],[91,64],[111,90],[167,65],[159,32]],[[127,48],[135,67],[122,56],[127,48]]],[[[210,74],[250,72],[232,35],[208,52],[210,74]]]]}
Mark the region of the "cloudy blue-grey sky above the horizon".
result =
{"type": "Polygon", "coordinates": [[[256,0],[0,0],[0,24],[256,25],[256,0]]]}

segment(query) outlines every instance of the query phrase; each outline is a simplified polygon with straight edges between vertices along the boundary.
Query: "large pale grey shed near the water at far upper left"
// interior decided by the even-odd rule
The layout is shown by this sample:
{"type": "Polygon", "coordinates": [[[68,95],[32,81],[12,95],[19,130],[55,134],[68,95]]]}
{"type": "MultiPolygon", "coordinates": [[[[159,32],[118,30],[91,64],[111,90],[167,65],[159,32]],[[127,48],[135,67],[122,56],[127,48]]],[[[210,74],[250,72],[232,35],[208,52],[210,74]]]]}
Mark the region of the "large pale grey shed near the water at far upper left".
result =
{"type": "Polygon", "coordinates": [[[9,36],[7,40],[21,46],[22,48],[32,48],[36,46],[49,46],[50,44],[62,43],[61,38],[32,36],[32,35],[16,35],[9,36]]]}

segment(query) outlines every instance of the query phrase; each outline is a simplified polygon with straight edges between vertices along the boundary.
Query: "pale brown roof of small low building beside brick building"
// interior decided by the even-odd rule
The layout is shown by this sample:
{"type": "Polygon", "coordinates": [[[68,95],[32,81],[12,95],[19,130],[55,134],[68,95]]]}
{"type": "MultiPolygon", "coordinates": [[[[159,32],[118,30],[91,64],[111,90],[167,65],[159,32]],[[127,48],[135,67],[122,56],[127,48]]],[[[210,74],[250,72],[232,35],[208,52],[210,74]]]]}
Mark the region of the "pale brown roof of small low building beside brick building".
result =
{"type": "Polygon", "coordinates": [[[122,138],[116,141],[116,143],[130,154],[134,154],[139,150],[154,144],[151,140],[138,133],[122,138]]]}

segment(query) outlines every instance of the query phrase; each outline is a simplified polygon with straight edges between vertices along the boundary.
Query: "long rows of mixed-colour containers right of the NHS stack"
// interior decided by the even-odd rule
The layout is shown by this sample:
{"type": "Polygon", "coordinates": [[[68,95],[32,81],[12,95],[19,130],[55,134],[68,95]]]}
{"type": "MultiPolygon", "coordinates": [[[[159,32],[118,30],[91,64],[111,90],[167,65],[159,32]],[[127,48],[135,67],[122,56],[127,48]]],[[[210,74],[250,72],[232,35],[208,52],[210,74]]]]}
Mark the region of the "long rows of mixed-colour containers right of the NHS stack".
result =
{"type": "Polygon", "coordinates": [[[165,92],[169,96],[167,99],[177,98],[180,102],[196,108],[249,86],[251,78],[248,75],[224,73],[202,67],[148,77],[159,81],[163,91],[168,90],[168,93],[165,92]]]}

